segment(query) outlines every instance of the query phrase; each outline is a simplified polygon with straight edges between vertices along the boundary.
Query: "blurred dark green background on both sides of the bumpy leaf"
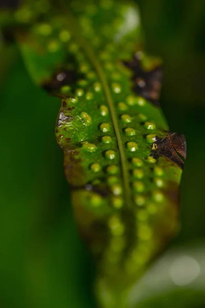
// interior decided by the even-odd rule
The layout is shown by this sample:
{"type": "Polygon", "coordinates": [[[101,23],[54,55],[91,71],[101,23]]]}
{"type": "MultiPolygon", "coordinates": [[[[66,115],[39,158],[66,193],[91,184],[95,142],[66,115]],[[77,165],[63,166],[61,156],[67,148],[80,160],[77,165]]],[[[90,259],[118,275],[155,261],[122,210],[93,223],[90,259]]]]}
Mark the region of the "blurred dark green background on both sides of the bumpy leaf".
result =
{"type": "MultiPolygon", "coordinates": [[[[165,258],[187,254],[186,249],[196,254],[198,262],[202,260],[202,282],[186,287],[170,284],[167,291],[158,282],[151,297],[150,277],[160,276],[163,268],[159,263],[157,274],[151,272],[144,286],[149,296],[140,299],[137,307],[202,308],[205,2],[138,0],[138,5],[146,49],[163,59],[161,106],[171,131],[185,134],[188,145],[181,182],[181,229],[165,258]]],[[[77,234],[63,173],[63,153],[54,136],[60,101],[48,98],[32,84],[14,46],[2,47],[0,55],[1,308],[94,308],[94,269],[77,234]]],[[[143,283],[139,290],[142,288],[143,283]]]]}

